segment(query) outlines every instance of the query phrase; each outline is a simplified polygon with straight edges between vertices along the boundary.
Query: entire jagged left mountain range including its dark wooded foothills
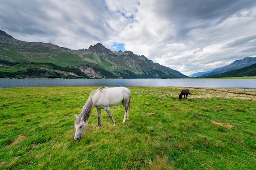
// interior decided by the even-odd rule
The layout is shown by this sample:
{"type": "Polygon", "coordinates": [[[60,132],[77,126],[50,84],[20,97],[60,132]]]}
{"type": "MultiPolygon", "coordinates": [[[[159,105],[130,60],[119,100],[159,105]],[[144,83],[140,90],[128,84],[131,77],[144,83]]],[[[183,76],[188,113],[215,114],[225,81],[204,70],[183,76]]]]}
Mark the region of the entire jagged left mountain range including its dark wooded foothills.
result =
{"type": "Polygon", "coordinates": [[[23,78],[188,78],[144,55],[114,52],[100,43],[88,49],[71,50],[51,43],[20,41],[4,31],[0,31],[0,71],[2,76],[15,72],[13,75],[23,78]],[[35,75],[36,72],[41,73],[35,75]]]}

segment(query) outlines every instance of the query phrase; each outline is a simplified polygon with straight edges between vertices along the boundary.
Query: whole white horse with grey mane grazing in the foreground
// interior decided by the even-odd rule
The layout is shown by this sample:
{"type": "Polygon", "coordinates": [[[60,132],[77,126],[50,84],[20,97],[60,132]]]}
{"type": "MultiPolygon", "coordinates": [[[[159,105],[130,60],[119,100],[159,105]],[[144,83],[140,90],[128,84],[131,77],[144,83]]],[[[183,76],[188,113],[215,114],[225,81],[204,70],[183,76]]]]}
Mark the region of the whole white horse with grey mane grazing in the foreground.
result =
{"type": "Polygon", "coordinates": [[[75,114],[76,121],[75,121],[75,140],[81,139],[83,132],[85,131],[86,127],[88,126],[87,119],[90,116],[90,113],[94,107],[97,108],[98,112],[98,126],[101,126],[101,109],[105,109],[108,113],[108,116],[115,125],[115,120],[112,117],[110,112],[110,106],[118,105],[122,102],[124,105],[124,120],[129,118],[129,110],[130,110],[130,98],[131,92],[129,89],[125,87],[100,87],[96,91],[92,92],[86,101],[85,105],[79,116],[75,114]]]}

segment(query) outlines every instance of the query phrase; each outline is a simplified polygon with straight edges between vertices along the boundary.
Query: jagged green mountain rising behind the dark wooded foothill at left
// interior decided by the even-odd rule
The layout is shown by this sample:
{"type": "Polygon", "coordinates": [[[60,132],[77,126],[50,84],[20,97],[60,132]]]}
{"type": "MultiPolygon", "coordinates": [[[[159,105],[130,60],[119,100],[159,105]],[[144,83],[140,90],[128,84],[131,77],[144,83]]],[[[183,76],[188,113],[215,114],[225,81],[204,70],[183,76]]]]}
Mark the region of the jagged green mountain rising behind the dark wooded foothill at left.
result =
{"type": "Polygon", "coordinates": [[[100,43],[88,49],[71,50],[51,43],[20,41],[4,31],[0,31],[0,60],[74,67],[97,78],[188,78],[176,70],[153,63],[144,55],[138,56],[131,51],[113,52],[100,43]]]}

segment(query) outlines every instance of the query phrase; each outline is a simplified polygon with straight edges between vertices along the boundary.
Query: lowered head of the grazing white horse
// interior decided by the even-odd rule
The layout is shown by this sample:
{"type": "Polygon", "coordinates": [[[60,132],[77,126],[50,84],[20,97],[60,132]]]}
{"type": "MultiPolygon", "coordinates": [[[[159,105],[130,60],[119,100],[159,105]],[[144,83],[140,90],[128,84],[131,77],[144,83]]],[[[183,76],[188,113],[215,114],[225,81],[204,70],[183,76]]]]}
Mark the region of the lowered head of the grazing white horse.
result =
{"type": "Polygon", "coordinates": [[[85,121],[83,119],[83,116],[77,116],[75,114],[76,117],[76,121],[75,121],[75,128],[76,128],[76,133],[75,133],[75,140],[79,140],[82,138],[83,132],[85,131],[85,129],[88,126],[88,122],[87,120],[85,121]]]}

